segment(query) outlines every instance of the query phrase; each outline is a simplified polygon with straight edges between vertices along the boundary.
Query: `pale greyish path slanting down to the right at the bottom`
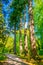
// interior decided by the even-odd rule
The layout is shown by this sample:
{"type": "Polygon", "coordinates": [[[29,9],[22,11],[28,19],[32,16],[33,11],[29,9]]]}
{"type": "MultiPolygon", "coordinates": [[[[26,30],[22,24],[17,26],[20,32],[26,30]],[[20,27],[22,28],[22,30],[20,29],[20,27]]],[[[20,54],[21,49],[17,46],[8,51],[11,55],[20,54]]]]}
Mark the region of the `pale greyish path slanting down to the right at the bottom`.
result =
{"type": "Polygon", "coordinates": [[[16,55],[5,54],[5,56],[8,58],[7,62],[8,63],[13,63],[13,65],[29,65],[27,62],[25,62],[24,60],[20,59],[16,55]]]}

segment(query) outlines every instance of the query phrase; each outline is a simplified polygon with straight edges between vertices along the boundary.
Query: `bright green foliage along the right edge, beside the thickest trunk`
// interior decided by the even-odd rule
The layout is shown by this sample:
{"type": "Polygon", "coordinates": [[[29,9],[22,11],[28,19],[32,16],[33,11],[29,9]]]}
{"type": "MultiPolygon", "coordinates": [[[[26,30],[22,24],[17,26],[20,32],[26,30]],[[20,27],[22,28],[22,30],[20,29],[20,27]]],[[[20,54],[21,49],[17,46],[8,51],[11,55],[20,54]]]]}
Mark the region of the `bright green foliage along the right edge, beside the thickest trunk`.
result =
{"type": "Polygon", "coordinates": [[[40,38],[41,48],[43,49],[43,1],[35,0],[33,10],[35,31],[38,38],[40,38]]]}

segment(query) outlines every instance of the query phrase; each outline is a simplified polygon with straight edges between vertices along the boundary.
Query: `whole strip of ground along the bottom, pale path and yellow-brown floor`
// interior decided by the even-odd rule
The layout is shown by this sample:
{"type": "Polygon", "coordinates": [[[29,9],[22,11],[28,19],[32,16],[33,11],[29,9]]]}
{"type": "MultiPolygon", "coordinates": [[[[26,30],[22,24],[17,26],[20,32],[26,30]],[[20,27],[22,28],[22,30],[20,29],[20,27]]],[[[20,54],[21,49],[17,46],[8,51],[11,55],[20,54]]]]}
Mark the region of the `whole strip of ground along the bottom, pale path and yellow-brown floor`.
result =
{"type": "Polygon", "coordinates": [[[11,54],[6,54],[8,59],[1,61],[0,65],[43,65],[43,60],[38,62],[37,60],[31,59],[30,61],[20,59],[17,56],[11,54]]]}

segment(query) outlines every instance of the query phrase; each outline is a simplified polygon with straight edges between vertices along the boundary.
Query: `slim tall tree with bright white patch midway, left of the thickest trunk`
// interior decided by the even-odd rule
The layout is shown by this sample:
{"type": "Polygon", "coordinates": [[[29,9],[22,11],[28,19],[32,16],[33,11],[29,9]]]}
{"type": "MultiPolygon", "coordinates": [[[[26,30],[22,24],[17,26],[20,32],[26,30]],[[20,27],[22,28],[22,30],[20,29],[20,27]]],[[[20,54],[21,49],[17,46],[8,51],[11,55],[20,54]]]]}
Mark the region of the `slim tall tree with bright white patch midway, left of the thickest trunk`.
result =
{"type": "Polygon", "coordinates": [[[24,52],[25,52],[25,55],[27,55],[27,53],[28,53],[28,42],[27,42],[26,9],[24,10],[24,52]]]}

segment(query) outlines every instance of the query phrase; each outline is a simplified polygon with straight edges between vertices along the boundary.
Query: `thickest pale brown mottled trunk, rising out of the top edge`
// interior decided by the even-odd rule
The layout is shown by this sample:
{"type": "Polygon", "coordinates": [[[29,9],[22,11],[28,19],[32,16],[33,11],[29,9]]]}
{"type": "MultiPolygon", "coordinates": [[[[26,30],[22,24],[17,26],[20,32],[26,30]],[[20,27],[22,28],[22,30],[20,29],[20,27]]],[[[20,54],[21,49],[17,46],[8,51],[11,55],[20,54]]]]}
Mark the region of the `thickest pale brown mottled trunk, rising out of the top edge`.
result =
{"type": "Polygon", "coordinates": [[[30,17],[30,42],[31,42],[31,52],[32,57],[35,58],[36,52],[36,41],[34,37],[34,20],[33,20],[33,10],[32,10],[32,0],[28,0],[29,4],[29,17],[30,17]]]}

